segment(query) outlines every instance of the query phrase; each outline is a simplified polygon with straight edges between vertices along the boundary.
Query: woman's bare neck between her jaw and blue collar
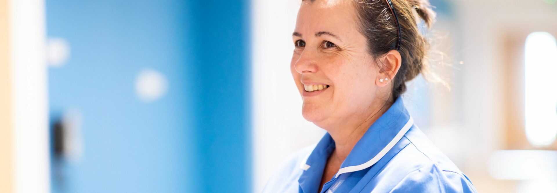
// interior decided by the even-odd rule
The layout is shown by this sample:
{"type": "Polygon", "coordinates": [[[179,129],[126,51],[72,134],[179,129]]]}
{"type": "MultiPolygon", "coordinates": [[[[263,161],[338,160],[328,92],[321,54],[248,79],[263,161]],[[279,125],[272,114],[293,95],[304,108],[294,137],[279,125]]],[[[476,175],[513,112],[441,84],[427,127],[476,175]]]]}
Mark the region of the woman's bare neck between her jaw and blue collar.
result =
{"type": "Polygon", "coordinates": [[[339,160],[340,163],[344,162],[350,151],[354,148],[356,143],[364,136],[368,128],[385,113],[392,102],[383,105],[381,103],[374,110],[366,111],[363,116],[350,116],[346,120],[341,121],[341,125],[335,129],[327,130],[333,140],[335,141],[335,150],[331,154],[331,159],[339,160]],[[379,109],[379,110],[378,110],[379,109]]]}

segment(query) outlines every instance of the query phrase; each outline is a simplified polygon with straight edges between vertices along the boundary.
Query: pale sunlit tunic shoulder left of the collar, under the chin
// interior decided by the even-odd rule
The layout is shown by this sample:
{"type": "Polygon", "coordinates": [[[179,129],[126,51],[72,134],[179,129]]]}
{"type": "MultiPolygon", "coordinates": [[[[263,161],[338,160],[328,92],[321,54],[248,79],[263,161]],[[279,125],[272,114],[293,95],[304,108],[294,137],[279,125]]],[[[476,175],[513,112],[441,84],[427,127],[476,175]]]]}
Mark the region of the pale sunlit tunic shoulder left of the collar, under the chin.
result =
{"type": "Polygon", "coordinates": [[[315,145],[310,145],[289,155],[267,181],[263,192],[297,192],[305,160],[314,149],[315,145]]]}

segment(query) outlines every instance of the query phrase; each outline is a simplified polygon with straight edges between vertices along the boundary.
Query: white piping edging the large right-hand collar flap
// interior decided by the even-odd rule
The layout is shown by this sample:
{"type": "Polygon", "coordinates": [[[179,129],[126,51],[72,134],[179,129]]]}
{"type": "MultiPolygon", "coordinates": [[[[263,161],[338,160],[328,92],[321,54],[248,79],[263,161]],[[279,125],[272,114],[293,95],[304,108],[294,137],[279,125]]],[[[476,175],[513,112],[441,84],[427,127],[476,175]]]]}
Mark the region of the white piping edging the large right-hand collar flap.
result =
{"type": "MultiPolygon", "coordinates": [[[[344,174],[344,173],[348,173],[348,172],[353,172],[353,171],[359,171],[359,170],[363,170],[368,168],[369,166],[374,165],[375,163],[377,163],[383,156],[385,156],[385,154],[387,154],[387,152],[390,151],[390,149],[392,149],[394,147],[394,145],[396,145],[398,143],[398,141],[400,141],[400,139],[404,136],[404,134],[406,134],[406,132],[410,129],[410,127],[412,127],[412,125],[414,124],[414,120],[412,117],[410,117],[410,119],[408,120],[408,122],[406,122],[406,125],[404,125],[404,127],[402,127],[402,129],[400,129],[400,131],[397,133],[396,136],[394,136],[393,140],[391,140],[387,146],[385,146],[383,148],[383,150],[379,151],[379,154],[375,155],[375,157],[373,157],[371,160],[369,160],[368,162],[365,162],[364,164],[360,164],[357,166],[348,166],[348,167],[343,167],[339,170],[339,172],[336,173],[335,178],[339,177],[339,175],[344,174]]],[[[307,159],[307,158],[306,158],[307,159]]],[[[305,163],[305,162],[304,162],[305,163]]]]}

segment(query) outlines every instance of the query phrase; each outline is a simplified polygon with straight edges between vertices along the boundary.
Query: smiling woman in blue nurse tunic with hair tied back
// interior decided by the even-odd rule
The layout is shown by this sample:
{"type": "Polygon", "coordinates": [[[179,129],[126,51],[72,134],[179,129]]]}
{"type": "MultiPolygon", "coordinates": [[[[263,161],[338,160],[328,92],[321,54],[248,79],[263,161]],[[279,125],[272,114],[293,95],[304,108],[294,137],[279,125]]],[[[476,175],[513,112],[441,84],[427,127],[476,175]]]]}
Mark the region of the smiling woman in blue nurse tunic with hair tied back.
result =
{"type": "Polygon", "coordinates": [[[426,66],[427,0],[303,0],[291,72],[302,115],[327,133],[263,192],[476,192],[413,125],[400,95],[426,66]]]}

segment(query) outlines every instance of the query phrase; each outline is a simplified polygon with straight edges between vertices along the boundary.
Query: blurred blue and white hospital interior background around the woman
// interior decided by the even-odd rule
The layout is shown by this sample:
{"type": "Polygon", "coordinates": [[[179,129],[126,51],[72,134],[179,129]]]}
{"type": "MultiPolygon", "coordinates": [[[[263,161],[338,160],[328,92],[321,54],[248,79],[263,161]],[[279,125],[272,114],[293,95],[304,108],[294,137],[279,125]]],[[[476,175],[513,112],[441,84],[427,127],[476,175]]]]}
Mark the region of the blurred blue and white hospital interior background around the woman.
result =
{"type": "MultiPolygon", "coordinates": [[[[0,192],[260,192],[325,133],[300,2],[0,0],[0,192]]],[[[416,125],[479,192],[557,192],[557,1],[431,4],[416,125]]]]}

